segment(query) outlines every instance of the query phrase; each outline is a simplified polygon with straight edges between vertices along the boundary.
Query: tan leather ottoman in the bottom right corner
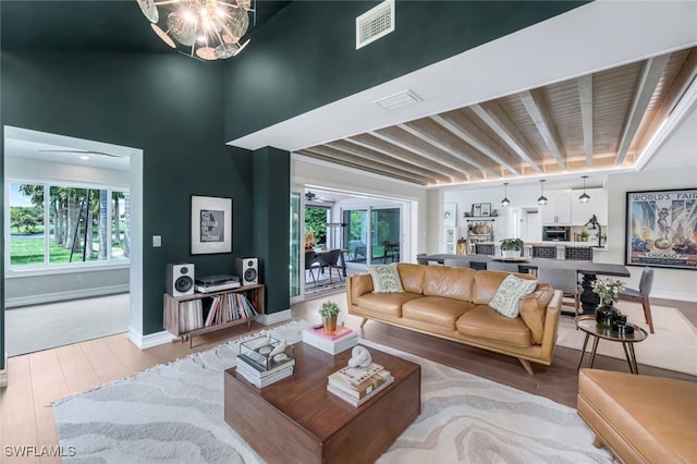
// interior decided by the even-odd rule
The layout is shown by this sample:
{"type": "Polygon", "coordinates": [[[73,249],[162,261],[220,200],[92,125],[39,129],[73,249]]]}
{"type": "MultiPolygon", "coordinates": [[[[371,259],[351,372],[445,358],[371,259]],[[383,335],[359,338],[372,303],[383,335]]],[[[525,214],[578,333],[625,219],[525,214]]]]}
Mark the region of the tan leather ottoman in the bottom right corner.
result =
{"type": "Polygon", "coordinates": [[[697,461],[697,383],[599,369],[578,374],[578,415],[624,463],[697,461]]]}

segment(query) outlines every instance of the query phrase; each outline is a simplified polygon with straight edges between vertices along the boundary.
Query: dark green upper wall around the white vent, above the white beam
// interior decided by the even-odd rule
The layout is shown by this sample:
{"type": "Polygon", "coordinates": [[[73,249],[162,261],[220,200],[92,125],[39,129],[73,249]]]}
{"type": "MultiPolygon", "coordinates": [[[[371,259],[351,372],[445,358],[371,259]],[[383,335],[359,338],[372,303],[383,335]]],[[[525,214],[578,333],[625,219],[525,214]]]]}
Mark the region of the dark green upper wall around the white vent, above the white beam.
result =
{"type": "MultiPolygon", "coordinates": [[[[396,78],[586,1],[398,1],[395,30],[355,49],[378,2],[295,1],[255,32],[225,76],[228,141],[396,78]]],[[[476,70],[472,70],[476,72],[476,70]]]]}

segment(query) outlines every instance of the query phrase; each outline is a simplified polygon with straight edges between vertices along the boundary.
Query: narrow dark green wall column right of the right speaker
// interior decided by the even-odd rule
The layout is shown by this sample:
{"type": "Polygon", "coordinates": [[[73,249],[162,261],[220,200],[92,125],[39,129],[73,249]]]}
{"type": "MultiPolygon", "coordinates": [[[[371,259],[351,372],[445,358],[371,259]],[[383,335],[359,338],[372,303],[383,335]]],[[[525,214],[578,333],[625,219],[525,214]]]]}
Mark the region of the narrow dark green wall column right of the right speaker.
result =
{"type": "Polygon", "coordinates": [[[266,283],[267,313],[290,308],[291,154],[254,151],[254,247],[266,283]]]}

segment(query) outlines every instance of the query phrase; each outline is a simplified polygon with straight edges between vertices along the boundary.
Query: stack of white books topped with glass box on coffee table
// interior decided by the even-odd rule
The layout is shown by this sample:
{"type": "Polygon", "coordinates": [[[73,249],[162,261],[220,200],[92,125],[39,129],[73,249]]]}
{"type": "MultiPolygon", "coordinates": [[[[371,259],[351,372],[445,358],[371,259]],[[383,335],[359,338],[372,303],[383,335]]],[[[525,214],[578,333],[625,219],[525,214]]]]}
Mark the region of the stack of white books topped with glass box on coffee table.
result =
{"type": "Polygon", "coordinates": [[[292,347],[282,353],[268,356],[268,353],[273,347],[276,347],[276,343],[253,350],[243,350],[237,355],[237,374],[258,388],[290,377],[295,366],[292,347]]]}

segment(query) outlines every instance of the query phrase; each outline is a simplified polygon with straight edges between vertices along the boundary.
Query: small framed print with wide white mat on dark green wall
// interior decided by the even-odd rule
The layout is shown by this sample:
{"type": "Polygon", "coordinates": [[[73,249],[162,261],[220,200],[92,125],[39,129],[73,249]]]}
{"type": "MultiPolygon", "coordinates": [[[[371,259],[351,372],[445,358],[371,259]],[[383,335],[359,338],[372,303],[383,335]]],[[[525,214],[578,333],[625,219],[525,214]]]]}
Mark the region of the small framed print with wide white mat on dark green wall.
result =
{"type": "Polygon", "coordinates": [[[192,255],[232,252],[232,198],[192,195],[192,255]]]}

